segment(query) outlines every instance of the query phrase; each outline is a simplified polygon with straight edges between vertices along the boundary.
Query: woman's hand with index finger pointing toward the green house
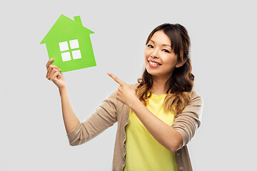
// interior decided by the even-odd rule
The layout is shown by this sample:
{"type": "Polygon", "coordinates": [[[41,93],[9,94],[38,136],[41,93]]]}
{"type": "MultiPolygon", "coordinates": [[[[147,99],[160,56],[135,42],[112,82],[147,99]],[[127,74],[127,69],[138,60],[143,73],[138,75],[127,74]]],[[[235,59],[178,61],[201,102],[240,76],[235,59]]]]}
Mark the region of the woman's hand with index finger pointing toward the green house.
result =
{"type": "MultiPolygon", "coordinates": [[[[120,100],[125,105],[128,105],[131,108],[136,101],[139,99],[136,97],[136,88],[133,88],[127,85],[124,81],[121,81],[118,77],[114,76],[112,73],[107,73],[111,78],[119,83],[119,87],[116,93],[116,99],[120,100]]],[[[140,102],[140,100],[139,100],[140,102]]]]}

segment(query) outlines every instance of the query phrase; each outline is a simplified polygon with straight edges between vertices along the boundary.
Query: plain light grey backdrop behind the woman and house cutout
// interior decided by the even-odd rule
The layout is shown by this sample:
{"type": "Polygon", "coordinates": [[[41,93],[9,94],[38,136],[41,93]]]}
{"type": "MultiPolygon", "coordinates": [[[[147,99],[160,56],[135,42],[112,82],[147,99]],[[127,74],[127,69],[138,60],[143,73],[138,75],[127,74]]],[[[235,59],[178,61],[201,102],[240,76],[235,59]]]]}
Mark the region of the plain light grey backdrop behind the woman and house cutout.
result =
{"type": "Polygon", "coordinates": [[[71,147],[59,91],[39,43],[61,14],[94,31],[96,67],[64,73],[79,120],[118,84],[136,83],[148,33],[179,23],[191,36],[202,125],[188,144],[193,168],[256,168],[256,8],[253,1],[9,1],[1,3],[0,170],[111,170],[116,124],[71,147]]]}

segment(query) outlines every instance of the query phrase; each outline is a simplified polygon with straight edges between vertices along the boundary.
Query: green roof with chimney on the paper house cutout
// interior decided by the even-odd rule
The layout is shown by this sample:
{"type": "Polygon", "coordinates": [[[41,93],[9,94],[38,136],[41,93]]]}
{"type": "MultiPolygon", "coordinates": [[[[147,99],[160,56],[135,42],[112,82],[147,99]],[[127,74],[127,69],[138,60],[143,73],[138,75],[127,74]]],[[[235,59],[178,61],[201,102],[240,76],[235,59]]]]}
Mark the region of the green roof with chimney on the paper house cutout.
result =
{"type": "Polygon", "coordinates": [[[94,31],[89,30],[88,28],[84,27],[81,22],[80,16],[74,16],[74,20],[69,19],[68,17],[61,14],[59,16],[59,19],[54,23],[54,25],[51,27],[49,32],[44,36],[43,40],[40,44],[46,43],[47,40],[51,38],[51,36],[56,33],[56,31],[59,31],[59,29],[64,30],[67,27],[77,29],[79,28],[80,31],[83,31],[86,34],[94,33],[94,31]]]}

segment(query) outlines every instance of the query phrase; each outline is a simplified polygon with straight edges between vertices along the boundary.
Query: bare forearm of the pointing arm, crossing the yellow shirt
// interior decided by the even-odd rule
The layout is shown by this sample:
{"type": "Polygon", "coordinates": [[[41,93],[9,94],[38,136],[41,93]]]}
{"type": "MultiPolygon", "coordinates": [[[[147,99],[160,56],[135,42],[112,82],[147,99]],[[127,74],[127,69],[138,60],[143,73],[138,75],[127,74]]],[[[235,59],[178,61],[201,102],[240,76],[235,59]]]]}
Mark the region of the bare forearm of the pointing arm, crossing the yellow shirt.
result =
{"type": "Polygon", "coordinates": [[[138,119],[145,126],[153,138],[155,138],[163,147],[166,147],[171,152],[175,152],[182,145],[181,135],[164,123],[162,120],[153,115],[150,110],[140,102],[135,101],[131,105],[131,109],[137,115],[138,119]]]}

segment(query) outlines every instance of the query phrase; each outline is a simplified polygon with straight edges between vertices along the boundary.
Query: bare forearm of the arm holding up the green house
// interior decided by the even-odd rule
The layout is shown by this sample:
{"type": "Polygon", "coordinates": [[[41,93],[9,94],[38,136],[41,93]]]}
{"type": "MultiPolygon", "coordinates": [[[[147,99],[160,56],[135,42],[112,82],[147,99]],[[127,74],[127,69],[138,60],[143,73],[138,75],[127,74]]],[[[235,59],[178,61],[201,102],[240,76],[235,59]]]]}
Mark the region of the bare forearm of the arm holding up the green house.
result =
{"type": "Polygon", "coordinates": [[[76,128],[79,125],[79,119],[76,117],[74,110],[71,107],[71,103],[69,100],[69,95],[67,88],[59,89],[60,97],[61,97],[61,110],[64,118],[64,125],[66,128],[66,133],[70,133],[71,130],[76,128]]]}

